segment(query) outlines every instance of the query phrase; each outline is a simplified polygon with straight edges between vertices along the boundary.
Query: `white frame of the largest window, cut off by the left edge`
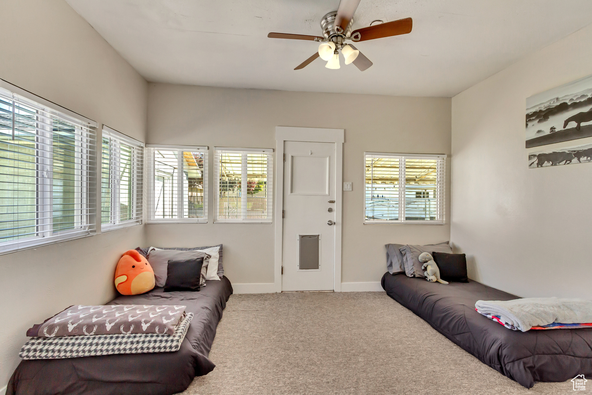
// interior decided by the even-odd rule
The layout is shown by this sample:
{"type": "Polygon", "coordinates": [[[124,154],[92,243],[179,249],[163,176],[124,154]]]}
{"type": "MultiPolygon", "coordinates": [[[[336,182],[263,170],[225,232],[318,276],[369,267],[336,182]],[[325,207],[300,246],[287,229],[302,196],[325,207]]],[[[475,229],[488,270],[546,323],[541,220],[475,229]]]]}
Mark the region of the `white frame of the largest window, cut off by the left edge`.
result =
{"type": "MultiPolygon", "coordinates": [[[[22,239],[7,240],[0,242],[0,255],[24,251],[26,249],[37,248],[45,245],[52,245],[55,243],[65,242],[67,240],[78,239],[80,237],[92,236],[96,233],[96,199],[95,199],[95,182],[96,176],[96,129],[98,124],[89,118],[68,110],[65,107],[55,104],[47,99],[38,97],[37,95],[25,91],[25,89],[12,85],[7,81],[0,79],[0,92],[5,97],[12,97],[12,107],[14,114],[15,103],[25,105],[29,108],[35,108],[36,116],[36,139],[35,139],[35,162],[36,163],[36,203],[35,203],[35,221],[36,228],[35,235],[23,237],[22,239]],[[53,184],[54,179],[54,155],[59,153],[53,152],[55,138],[53,136],[54,130],[50,131],[39,126],[40,118],[47,118],[52,122],[65,121],[66,123],[75,126],[76,133],[73,135],[74,151],[76,168],[73,175],[76,176],[75,194],[76,203],[73,209],[62,209],[66,211],[75,211],[78,214],[73,214],[75,229],[54,230],[58,221],[54,222],[54,197],[53,184]],[[41,147],[51,146],[52,150],[47,150],[41,147]],[[78,157],[78,155],[80,155],[78,157]],[[50,203],[47,203],[50,202],[50,203]],[[43,207],[40,209],[40,207],[43,207]],[[79,218],[78,218],[79,217],[79,218]]],[[[14,115],[13,115],[14,116],[14,115]]],[[[14,120],[12,122],[14,130],[14,120]]],[[[53,126],[52,128],[54,128],[53,126]]],[[[60,160],[60,159],[57,159],[60,160]]],[[[57,166],[58,168],[65,168],[57,166]]],[[[59,184],[57,184],[59,185],[59,184]]],[[[65,203],[61,203],[64,205],[65,203]]],[[[57,203],[60,206],[60,203],[57,203]]],[[[62,218],[58,216],[57,218],[62,218]]],[[[18,220],[17,220],[18,221],[18,220]]]]}

